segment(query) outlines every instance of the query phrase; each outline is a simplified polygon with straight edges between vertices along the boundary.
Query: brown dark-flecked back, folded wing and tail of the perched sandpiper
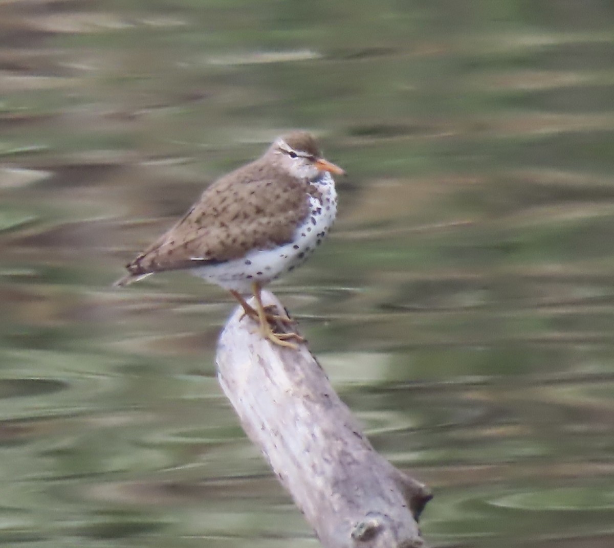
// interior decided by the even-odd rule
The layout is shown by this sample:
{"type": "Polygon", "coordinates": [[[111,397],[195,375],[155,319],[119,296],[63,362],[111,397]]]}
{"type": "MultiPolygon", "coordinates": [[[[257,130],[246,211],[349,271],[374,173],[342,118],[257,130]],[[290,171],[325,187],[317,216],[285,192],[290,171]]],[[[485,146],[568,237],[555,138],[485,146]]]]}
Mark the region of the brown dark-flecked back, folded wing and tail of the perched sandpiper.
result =
{"type": "Polygon", "coordinates": [[[209,186],[173,228],[126,265],[123,285],[148,273],[193,268],[292,239],[308,214],[309,184],[252,162],[209,186]]]}

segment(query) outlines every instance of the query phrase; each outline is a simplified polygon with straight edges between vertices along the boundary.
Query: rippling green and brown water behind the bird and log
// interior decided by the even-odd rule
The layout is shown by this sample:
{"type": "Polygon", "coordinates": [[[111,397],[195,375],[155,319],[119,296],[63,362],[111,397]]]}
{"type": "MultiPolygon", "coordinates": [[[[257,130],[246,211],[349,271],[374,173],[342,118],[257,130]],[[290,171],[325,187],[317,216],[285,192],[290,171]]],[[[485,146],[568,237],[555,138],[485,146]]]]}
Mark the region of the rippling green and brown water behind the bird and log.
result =
{"type": "Polygon", "coordinates": [[[434,546],[612,544],[614,7],[0,4],[0,540],[317,546],[214,378],[233,303],[122,264],[281,131],[350,174],[274,291],[434,546]]]}

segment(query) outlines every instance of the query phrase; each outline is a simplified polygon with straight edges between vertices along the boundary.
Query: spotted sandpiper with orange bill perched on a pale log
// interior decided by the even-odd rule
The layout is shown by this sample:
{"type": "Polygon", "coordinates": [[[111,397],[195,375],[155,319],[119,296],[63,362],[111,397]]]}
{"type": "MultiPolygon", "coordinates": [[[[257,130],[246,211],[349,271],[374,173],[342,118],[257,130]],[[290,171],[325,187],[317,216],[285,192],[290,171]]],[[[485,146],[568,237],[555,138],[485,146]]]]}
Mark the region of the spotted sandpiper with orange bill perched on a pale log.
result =
{"type": "MultiPolygon", "coordinates": [[[[258,159],[212,182],[187,213],[126,265],[114,283],[126,286],[153,273],[188,270],[231,293],[271,343],[298,348],[285,311],[262,303],[263,286],[291,272],[313,253],[335,221],[333,175],[308,131],[274,139],[258,159]],[[244,296],[253,294],[255,307],[244,296]],[[271,326],[273,324],[273,326],[271,326]]],[[[244,317],[243,316],[243,317],[244,317]]]]}

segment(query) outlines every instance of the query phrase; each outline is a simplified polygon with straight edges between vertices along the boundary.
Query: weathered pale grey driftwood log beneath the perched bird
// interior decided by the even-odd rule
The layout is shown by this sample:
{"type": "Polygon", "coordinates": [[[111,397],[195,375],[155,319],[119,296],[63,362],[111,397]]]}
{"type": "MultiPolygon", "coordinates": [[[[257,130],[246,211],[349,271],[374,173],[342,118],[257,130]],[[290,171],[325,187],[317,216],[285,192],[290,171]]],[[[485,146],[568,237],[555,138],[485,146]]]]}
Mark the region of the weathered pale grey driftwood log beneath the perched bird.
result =
{"type": "Polygon", "coordinates": [[[375,452],[305,344],[274,346],[241,312],[220,336],[220,385],[322,545],[424,547],[417,520],[428,488],[375,452]]]}

